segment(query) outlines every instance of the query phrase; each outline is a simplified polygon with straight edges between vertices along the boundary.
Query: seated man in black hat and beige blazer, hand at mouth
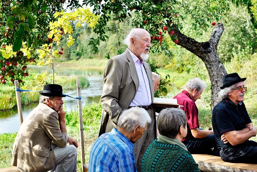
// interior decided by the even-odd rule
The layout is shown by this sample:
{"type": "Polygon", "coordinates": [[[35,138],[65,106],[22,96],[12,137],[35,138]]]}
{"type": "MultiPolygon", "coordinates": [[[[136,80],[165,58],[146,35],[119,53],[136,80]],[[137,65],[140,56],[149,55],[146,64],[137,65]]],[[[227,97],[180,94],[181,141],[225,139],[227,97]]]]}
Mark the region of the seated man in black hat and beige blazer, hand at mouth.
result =
{"type": "Polygon", "coordinates": [[[47,84],[39,94],[39,105],[25,118],[13,144],[11,165],[25,172],[75,172],[78,143],[67,135],[62,86],[47,84]]]}

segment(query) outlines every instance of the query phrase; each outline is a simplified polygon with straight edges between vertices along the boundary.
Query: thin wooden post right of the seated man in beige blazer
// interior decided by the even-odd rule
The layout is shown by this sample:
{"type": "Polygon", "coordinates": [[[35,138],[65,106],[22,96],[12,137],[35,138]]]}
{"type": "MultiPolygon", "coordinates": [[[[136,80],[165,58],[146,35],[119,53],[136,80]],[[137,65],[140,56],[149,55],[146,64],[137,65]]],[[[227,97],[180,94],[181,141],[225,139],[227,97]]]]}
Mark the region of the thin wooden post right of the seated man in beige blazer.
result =
{"type": "MultiPolygon", "coordinates": [[[[80,79],[77,79],[77,93],[78,97],[81,97],[80,92],[80,79]]],[[[78,110],[79,110],[79,126],[80,126],[80,146],[81,146],[81,159],[82,159],[82,170],[85,171],[85,150],[84,150],[84,135],[83,135],[83,120],[82,120],[82,107],[81,99],[78,99],[78,110]]]]}

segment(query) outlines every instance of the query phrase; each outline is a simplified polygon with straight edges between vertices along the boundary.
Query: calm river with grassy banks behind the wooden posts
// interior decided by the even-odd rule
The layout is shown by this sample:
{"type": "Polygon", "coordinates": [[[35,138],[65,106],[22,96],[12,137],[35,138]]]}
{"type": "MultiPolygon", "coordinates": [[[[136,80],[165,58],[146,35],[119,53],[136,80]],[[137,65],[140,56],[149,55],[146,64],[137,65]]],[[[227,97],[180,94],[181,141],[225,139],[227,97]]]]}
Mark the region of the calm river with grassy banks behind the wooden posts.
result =
{"type": "MultiPolygon", "coordinates": [[[[103,91],[103,77],[87,77],[89,80],[89,87],[81,89],[81,103],[85,105],[87,101],[92,104],[93,101],[99,102],[103,91]]],[[[71,97],[77,97],[77,90],[66,91],[65,94],[71,97]]],[[[66,111],[75,109],[78,106],[78,100],[70,97],[64,97],[63,101],[66,105],[66,111]]],[[[22,106],[23,120],[28,116],[31,110],[37,107],[38,103],[32,103],[28,106],[22,106]]],[[[0,112],[0,134],[17,132],[20,128],[18,109],[0,112]]]]}

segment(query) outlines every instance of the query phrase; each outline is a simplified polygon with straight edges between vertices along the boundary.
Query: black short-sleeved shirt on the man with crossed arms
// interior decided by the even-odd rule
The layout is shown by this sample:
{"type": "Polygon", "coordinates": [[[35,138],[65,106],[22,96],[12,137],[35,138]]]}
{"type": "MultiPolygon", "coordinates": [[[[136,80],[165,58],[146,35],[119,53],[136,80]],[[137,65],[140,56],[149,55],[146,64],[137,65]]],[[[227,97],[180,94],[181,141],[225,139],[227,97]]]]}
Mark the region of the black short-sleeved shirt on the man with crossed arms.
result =
{"type": "Polygon", "coordinates": [[[221,141],[222,134],[242,130],[251,122],[243,102],[236,105],[229,98],[223,99],[212,111],[212,128],[217,148],[233,147],[230,143],[224,144],[221,141]]]}

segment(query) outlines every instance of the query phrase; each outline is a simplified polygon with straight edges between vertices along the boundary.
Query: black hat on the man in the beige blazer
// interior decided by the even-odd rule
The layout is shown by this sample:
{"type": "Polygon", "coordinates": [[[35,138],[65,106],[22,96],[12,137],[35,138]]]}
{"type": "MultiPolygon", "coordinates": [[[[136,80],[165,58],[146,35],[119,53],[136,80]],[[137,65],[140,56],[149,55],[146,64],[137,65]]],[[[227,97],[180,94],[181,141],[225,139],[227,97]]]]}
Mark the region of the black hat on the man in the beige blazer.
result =
{"type": "Polygon", "coordinates": [[[63,87],[58,84],[47,84],[44,85],[43,91],[39,91],[39,94],[43,96],[58,96],[58,97],[66,97],[63,95],[63,87]]]}

